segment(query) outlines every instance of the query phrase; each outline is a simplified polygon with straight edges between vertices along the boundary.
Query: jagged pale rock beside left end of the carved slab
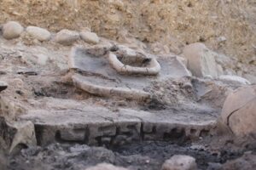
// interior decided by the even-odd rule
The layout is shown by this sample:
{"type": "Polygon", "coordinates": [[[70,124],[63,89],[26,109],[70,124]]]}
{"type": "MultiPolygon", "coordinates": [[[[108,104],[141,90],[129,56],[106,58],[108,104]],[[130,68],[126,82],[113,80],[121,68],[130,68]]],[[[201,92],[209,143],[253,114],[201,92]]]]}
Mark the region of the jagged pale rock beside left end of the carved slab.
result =
{"type": "Polygon", "coordinates": [[[32,122],[7,122],[0,117],[0,145],[12,153],[20,146],[36,145],[34,125],[32,122]]]}

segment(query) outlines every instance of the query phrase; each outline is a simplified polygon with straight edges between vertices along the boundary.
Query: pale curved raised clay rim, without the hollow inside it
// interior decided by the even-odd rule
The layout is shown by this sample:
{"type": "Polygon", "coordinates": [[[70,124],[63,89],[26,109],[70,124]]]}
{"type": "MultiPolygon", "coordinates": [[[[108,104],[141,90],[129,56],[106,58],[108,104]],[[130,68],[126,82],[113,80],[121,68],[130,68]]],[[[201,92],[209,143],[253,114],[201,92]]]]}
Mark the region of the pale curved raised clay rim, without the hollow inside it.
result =
{"type": "Polygon", "coordinates": [[[120,74],[136,74],[136,75],[148,75],[156,76],[160,72],[160,64],[154,58],[150,59],[149,65],[147,67],[136,67],[131,65],[124,65],[117,57],[116,54],[109,53],[108,61],[112,65],[113,69],[118,71],[120,74]]]}

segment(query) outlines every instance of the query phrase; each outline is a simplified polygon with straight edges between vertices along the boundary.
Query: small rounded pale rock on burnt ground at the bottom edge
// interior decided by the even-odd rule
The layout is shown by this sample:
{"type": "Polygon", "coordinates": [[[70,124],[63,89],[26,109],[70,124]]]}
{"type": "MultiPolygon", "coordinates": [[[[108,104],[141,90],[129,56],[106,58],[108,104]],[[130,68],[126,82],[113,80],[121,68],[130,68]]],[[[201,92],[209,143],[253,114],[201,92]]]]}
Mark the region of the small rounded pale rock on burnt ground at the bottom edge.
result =
{"type": "Polygon", "coordinates": [[[195,158],[191,156],[172,156],[171,159],[165,161],[162,170],[196,170],[197,165],[195,158]]]}

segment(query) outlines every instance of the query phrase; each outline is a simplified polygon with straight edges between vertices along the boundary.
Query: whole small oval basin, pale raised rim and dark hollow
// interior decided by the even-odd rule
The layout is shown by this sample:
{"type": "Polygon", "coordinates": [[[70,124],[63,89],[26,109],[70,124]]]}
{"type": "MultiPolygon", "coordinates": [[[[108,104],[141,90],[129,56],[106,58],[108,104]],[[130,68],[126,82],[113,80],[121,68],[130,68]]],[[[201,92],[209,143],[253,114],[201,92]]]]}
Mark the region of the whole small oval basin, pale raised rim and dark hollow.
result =
{"type": "Polygon", "coordinates": [[[113,69],[120,74],[156,76],[160,72],[160,64],[154,58],[144,56],[121,56],[109,53],[108,60],[113,69]]]}

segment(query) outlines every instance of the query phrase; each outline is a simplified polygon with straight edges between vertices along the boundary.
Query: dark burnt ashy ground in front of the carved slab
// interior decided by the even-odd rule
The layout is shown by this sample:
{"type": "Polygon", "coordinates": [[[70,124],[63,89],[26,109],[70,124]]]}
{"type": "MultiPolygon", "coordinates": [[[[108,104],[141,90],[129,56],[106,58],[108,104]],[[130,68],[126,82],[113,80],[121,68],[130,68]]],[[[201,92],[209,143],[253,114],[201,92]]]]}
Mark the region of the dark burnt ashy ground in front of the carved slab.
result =
{"type": "MultiPolygon", "coordinates": [[[[9,157],[9,170],[77,170],[107,162],[132,170],[160,169],[162,163],[173,155],[194,156],[200,169],[208,165],[224,163],[242,156],[243,151],[207,149],[207,144],[175,144],[165,141],[144,141],[125,144],[108,150],[80,144],[50,144],[22,150],[19,155],[9,157]]],[[[214,167],[214,166],[213,166],[214,167]]],[[[212,168],[213,168],[212,167],[212,168]]]]}

